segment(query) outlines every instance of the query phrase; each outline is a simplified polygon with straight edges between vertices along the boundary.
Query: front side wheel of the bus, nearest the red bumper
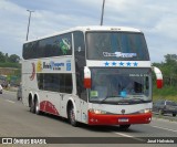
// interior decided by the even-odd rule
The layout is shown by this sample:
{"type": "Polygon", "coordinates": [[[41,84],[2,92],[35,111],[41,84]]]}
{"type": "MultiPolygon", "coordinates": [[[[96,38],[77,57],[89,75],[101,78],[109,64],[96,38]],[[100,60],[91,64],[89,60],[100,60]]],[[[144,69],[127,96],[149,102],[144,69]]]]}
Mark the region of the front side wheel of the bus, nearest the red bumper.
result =
{"type": "Polygon", "coordinates": [[[69,122],[72,126],[74,126],[74,127],[77,126],[77,122],[75,119],[75,111],[74,111],[73,105],[69,108],[69,122]]]}

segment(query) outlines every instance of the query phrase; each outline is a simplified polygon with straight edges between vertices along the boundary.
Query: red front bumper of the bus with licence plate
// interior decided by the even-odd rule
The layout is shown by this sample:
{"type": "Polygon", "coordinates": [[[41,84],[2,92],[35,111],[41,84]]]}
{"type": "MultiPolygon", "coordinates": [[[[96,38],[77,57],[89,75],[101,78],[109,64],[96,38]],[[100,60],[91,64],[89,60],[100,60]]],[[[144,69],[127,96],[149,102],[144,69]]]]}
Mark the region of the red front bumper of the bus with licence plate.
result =
{"type": "Polygon", "coordinates": [[[110,115],[110,114],[94,114],[88,112],[88,125],[149,124],[150,120],[152,120],[152,113],[110,115]]]}

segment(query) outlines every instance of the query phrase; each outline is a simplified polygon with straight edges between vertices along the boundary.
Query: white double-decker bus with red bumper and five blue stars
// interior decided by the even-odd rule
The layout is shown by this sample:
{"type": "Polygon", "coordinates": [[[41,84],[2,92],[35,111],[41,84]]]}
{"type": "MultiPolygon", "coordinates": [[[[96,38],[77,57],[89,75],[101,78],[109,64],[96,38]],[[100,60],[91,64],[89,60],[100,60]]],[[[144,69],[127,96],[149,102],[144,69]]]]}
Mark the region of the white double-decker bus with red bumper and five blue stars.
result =
{"type": "Polygon", "coordinates": [[[32,113],[73,126],[150,123],[153,67],[139,30],[77,27],[25,42],[22,56],[22,99],[32,113]]]}

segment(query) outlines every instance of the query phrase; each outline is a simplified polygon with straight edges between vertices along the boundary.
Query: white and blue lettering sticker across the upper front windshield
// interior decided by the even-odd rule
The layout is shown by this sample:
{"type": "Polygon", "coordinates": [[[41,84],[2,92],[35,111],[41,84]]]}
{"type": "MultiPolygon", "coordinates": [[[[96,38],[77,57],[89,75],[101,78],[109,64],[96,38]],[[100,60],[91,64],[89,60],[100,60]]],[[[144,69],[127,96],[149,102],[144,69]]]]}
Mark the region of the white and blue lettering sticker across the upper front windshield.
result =
{"type": "Polygon", "coordinates": [[[137,56],[137,54],[136,53],[122,53],[122,52],[115,52],[115,53],[103,52],[103,56],[135,57],[137,56]]]}

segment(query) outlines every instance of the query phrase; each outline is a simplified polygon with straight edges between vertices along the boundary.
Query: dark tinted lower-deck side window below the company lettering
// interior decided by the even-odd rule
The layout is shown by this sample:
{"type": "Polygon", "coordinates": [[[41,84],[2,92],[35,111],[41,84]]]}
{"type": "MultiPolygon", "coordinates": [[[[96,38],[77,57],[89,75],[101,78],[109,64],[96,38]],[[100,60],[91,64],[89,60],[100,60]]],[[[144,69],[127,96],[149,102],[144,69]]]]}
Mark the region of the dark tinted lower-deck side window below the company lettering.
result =
{"type": "Polygon", "coordinates": [[[72,93],[72,74],[38,74],[39,90],[72,93]]]}

